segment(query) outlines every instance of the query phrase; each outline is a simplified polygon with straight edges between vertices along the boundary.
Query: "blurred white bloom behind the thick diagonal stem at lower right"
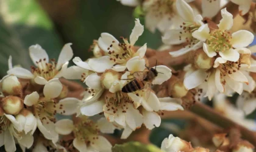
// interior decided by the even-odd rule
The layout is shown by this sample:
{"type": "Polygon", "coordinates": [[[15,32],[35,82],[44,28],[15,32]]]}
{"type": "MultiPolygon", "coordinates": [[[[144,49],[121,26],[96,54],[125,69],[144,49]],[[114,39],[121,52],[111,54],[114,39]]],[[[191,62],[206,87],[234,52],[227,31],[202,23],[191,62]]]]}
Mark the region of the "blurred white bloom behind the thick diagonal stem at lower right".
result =
{"type": "MultiPolygon", "coordinates": [[[[238,101],[241,102],[242,99],[244,99],[244,95],[241,94],[238,98],[238,101]]],[[[247,96],[248,97],[248,96],[247,96]]],[[[237,101],[237,103],[238,103],[237,101]]],[[[242,101],[243,102],[243,101],[242,101]]],[[[256,102],[255,102],[256,105],[256,102]]],[[[255,108],[256,106],[254,106],[255,108]]],[[[252,119],[246,119],[246,116],[244,114],[244,111],[241,109],[235,108],[231,103],[227,101],[226,95],[224,94],[218,94],[215,95],[213,98],[213,108],[220,112],[223,116],[226,116],[233,122],[236,122],[249,130],[255,131],[256,130],[256,123],[252,119]]]]}

